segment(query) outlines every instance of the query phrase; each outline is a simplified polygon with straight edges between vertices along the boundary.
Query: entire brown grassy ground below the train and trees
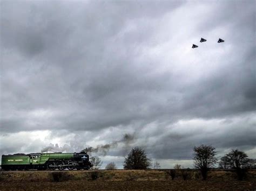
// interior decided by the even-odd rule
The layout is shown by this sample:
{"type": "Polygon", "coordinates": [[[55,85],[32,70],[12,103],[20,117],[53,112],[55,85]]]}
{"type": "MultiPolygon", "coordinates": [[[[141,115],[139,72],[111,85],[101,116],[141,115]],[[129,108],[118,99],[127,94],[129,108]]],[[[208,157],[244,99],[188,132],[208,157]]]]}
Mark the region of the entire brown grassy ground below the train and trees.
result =
{"type": "Polygon", "coordinates": [[[198,171],[188,171],[187,180],[166,171],[2,171],[0,190],[255,190],[256,171],[238,181],[232,171],[211,171],[202,181],[198,171]]]}

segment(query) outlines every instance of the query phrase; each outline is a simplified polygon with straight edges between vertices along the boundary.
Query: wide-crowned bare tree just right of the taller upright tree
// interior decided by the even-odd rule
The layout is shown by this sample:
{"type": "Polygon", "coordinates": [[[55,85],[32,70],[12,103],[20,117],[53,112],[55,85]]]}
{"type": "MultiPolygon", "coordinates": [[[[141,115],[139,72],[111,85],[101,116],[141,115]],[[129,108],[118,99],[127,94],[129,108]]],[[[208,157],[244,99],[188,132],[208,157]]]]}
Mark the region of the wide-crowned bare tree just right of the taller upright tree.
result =
{"type": "Polygon", "coordinates": [[[221,164],[226,164],[227,168],[233,168],[236,170],[238,179],[242,180],[246,175],[245,168],[250,165],[250,159],[244,151],[232,150],[221,158],[221,164]]]}

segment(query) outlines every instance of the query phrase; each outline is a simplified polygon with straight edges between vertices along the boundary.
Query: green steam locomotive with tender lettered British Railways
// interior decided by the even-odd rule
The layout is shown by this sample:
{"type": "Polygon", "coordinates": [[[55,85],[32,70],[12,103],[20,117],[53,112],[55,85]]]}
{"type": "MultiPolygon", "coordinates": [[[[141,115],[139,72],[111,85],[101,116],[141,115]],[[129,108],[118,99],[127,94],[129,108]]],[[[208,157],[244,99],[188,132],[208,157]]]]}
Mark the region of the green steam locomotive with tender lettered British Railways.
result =
{"type": "Polygon", "coordinates": [[[2,169],[4,170],[55,170],[64,169],[90,169],[93,165],[89,155],[80,153],[30,153],[30,154],[8,154],[2,155],[2,169]]]}

